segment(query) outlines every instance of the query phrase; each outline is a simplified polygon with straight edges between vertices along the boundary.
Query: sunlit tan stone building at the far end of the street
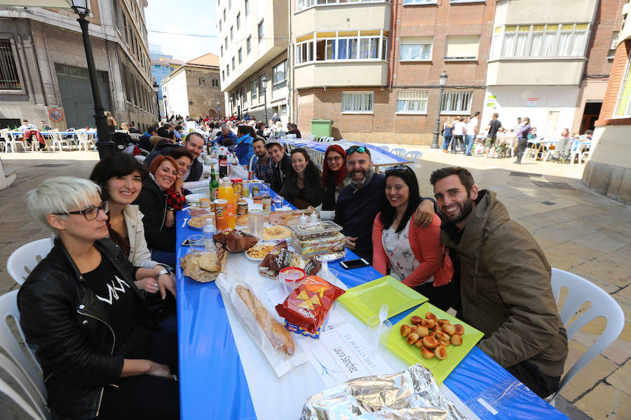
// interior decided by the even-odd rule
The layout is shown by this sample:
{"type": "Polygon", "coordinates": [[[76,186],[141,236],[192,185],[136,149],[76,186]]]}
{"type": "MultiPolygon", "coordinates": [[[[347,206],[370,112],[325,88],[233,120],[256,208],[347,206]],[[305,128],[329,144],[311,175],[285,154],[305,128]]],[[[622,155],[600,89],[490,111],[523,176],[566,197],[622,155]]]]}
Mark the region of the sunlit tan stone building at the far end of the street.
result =
{"type": "Polygon", "coordinates": [[[219,57],[209,52],[179,66],[162,79],[162,92],[168,116],[219,117],[224,109],[219,57]]]}

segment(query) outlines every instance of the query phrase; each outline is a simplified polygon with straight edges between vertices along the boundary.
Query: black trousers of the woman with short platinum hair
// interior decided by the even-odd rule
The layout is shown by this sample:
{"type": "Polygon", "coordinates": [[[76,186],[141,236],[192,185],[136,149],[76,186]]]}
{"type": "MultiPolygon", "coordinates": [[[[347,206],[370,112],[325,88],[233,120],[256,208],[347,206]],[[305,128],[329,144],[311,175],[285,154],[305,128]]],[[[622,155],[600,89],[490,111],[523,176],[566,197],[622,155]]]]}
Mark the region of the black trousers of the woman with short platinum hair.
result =
{"type": "MultiPolygon", "coordinates": [[[[177,372],[177,335],[153,332],[147,346],[130,358],[145,358],[177,372]]],[[[118,388],[107,386],[98,420],[179,419],[179,384],[173,379],[143,374],[121,378],[118,388]]]]}

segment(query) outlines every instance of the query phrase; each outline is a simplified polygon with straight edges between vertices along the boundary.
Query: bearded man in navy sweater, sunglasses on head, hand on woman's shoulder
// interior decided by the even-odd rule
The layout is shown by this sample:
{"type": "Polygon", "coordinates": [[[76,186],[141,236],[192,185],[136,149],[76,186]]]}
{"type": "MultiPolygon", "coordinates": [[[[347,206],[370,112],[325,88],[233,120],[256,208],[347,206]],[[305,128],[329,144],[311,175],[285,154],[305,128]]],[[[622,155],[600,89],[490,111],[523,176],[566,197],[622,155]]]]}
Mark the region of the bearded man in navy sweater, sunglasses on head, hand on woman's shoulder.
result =
{"type": "MultiPolygon", "coordinates": [[[[334,222],[343,228],[346,248],[372,263],[372,224],[379,213],[386,177],[375,174],[370,151],[364,146],[346,149],[346,173],[351,183],[337,197],[334,222]]],[[[416,209],[414,224],[426,228],[434,213],[433,200],[424,199],[416,209]]]]}

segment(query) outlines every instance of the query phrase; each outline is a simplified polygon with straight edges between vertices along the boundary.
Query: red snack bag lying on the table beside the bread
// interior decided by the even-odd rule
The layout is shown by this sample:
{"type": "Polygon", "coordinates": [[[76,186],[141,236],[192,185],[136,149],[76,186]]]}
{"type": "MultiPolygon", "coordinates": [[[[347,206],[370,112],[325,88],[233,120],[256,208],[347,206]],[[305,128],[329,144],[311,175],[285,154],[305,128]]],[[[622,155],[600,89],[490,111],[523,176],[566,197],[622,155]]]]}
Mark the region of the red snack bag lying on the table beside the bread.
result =
{"type": "Polygon", "coordinates": [[[318,276],[307,276],[301,286],[276,305],[278,315],[287,322],[315,334],[327,318],[331,306],[344,290],[318,276]]]}

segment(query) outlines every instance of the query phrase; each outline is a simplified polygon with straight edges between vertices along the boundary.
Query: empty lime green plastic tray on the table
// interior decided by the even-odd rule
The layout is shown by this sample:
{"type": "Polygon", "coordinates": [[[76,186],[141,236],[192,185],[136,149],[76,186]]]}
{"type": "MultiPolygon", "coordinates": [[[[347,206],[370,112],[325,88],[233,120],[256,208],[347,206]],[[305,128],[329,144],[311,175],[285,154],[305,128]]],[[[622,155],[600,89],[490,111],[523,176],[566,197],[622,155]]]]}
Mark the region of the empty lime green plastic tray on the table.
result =
{"type": "Polygon", "coordinates": [[[337,301],[344,304],[351,314],[366,323],[368,318],[379,315],[381,304],[388,304],[388,318],[402,311],[427,302],[427,297],[405,286],[392,276],[381,277],[346,290],[337,301]]]}

